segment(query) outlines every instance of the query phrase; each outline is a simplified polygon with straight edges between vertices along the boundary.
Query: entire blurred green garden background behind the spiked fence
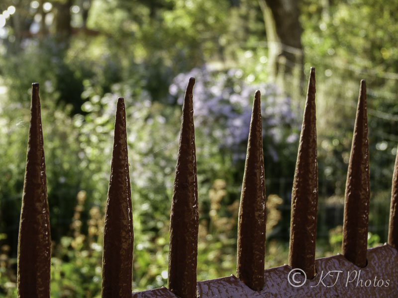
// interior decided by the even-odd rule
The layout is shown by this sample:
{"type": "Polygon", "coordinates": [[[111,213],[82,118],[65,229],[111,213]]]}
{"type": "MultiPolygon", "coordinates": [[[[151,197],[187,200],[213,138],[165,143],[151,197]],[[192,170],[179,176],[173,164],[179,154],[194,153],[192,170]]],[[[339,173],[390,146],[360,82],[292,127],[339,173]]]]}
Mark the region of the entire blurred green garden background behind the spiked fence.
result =
{"type": "Polygon", "coordinates": [[[236,272],[254,91],[262,92],[266,267],[288,262],[291,191],[316,68],[316,256],[340,252],[360,79],[367,80],[368,244],[387,241],[398,144],[396,0],[1,0],[0,297],[16,296],[31,83],[40,83],[51,297],[100,297],[116,100],[126,103],[134,291],[167,285],[169,216],[188,78],[199,182],[198,280],[236,272]]]}

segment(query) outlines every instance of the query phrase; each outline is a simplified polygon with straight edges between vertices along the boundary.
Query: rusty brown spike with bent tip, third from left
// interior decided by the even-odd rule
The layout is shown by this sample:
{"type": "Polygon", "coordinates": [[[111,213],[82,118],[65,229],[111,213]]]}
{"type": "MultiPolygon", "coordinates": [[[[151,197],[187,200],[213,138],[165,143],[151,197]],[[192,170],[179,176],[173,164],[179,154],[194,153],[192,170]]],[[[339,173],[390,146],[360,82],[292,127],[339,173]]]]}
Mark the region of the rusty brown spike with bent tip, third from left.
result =
{"type": "Polygon", "coordinates": [[[191,77],[185,91],[180,147],[178,150],[173,201],[170,214],[170,250],[168,288],[181,298],[197,293],[198,255],[198,180],[191,77]]]}

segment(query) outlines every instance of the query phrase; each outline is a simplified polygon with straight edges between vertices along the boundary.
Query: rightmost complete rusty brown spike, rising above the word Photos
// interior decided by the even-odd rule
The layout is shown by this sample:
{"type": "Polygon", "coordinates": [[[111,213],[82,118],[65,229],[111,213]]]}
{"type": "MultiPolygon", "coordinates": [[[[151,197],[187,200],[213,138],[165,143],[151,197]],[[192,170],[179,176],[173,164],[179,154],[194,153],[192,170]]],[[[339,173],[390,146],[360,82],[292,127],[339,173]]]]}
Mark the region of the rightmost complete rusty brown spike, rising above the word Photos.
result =
{"type": "Polygon", "coordinates": [[[342,252],[357,265],[366,266],[369,224],[369,144],[366,84],[361,81],[345,189],[342,252]]]}

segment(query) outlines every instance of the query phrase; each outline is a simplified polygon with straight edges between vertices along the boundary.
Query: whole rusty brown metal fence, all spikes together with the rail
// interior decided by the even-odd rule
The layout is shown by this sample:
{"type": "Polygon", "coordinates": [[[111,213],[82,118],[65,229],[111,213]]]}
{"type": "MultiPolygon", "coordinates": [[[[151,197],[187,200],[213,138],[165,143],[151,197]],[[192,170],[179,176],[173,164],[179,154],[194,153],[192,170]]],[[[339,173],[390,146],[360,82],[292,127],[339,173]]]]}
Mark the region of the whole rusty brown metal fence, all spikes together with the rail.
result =
{"type": "MultiPolygon", "coordinates": [[[[370,179],[366,85],[361,81],[347,173],[342,255],[315,260],[318,170],[315,70],[311,68],[292,192],[289,266],[264,270],[265,177],[260,91],[256,91],[238,221],[237,277],[197,282],[198,180],[193,108],[195,78],[186,89],[170,219],[168,289],[132,292],[133,224],[123,98],[117,101],[106,200],[102,297],[396,297],[398,291],[398,153],[388,244],[367,249],[370,179]],[[292,269],[301,270],[295,283],[292,269]],[[325,286],[326,272],[356,272],[358,282],[325,286]],[[362,273],[361,273],[362,272],[362,273]],[[360,275],[361,283],[360,283],[360,275]],[[367,286],[368,281],[377,286],[367,286]],[[308,280],[307,280],[308,279],[308,280]],[[379,286],[380,281],[382,285],[379,286]],[[388,281],[388,282],[387,282],[388,281]],[[362,283],[365,282],[365,286],[362,283]],[[358,287],[358,284],[361,284],[358,287]],[[388,284],[388,285],[387,285],[388,284]],[[319,286],[320,285],[320,286],[319,286]],[[335,286],[335,287],[334,287],[335,286]]],[[[39,84],[33,83],[31,119],[18,241],[18,297],[50,297],[51,239],[39,84]]],[[[329,276],[332,277],[332,276],[329,276]]],[[[348,275],[347,280],[350,278],[348,275]]]]}

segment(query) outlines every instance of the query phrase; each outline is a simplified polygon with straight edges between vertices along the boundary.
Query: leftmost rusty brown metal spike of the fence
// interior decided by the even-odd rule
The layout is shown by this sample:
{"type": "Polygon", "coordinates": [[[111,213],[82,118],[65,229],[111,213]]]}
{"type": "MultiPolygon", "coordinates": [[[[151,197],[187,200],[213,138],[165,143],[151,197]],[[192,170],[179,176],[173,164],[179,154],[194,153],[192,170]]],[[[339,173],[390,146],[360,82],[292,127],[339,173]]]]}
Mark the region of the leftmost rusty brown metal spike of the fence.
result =
{"type": "Polygon", "coordinates": [[[51,236],[39,84],[32,84],[18,239],[18,297],[50,297],[51,236]]]}

